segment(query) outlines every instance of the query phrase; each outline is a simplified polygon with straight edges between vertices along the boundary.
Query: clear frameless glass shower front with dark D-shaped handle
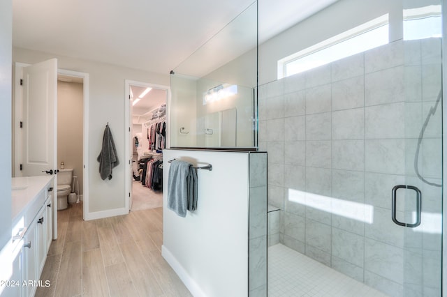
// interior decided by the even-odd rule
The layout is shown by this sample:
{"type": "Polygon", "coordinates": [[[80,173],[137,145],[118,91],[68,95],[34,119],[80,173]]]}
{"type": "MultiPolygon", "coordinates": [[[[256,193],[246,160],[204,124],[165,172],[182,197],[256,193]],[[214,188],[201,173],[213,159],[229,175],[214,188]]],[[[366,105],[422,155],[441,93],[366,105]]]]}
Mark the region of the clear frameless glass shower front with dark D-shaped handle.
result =
{"type": "Polygon", "coordinates": [[[354,2],[284,34],[343,12],[388,43],[259,86],[268,296],[441,296],[441,1],[354,2]]]}

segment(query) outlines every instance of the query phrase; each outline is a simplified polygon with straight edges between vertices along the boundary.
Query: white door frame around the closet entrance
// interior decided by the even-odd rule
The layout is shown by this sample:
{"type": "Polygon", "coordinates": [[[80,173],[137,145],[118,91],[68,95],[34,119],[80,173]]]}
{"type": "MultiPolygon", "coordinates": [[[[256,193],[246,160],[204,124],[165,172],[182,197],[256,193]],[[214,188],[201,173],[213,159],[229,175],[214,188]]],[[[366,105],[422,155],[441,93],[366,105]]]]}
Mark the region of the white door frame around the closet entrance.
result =
{"type": "MultiPolygon", "coordinates": [[[[152,89],[161,89],[166,91],[166,135],[170,135],[169,132],[169,102],[170,102],[170,86],[165,86],[162,84],[152,84],[149,82],[138,82],[135,80],[125,79],[124,80],[124,89],[125,89],[125,104],[124,104],[124,132],[126,133],[126,148],[124,150],[124,153],[126,155],[126,168],[124,169],[124,172],[130,172],[132,168],[132,162],[131,160],[127,160],[129,156],[131,155],[131,147],[129,144],[131,144],[132,140],[132,128],[130,127],[129,123],[131,122],[131,86],[142,86],[145,88],[152,88],[152,89]]],[[[166,148],[170,148],[170,140],[169,137],[166,137],[166,148]]],[[[130,178],[124,178],[125,180],[125,186],[124,186],[124,192],[126,193],[126,205],[124,208],[129,209],[129,212],[131,211],[131,199],[132,199],[132,185],[131,185],[131,179],[130,178]]]]}

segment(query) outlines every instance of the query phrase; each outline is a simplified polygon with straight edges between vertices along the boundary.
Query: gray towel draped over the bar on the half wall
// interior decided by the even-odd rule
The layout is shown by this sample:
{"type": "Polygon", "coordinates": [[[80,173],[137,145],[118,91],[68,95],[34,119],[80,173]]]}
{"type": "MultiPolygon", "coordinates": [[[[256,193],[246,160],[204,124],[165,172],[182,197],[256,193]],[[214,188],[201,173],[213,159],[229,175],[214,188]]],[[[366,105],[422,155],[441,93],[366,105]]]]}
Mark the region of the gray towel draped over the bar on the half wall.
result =
{"type": "Polygon", "coordinates": [[[180,217],[197,209],[197,173],[189,162],[173,160],[168,174],[168,208],[180,217]]]}

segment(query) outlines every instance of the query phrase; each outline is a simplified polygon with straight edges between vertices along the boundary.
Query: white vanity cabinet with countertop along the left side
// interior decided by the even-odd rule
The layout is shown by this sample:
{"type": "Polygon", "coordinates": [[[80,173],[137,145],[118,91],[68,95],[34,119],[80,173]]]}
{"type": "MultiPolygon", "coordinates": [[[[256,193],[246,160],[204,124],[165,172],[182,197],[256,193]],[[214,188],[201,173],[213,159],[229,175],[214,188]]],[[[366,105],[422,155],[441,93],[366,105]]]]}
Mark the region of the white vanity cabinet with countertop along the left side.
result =
{"type": "Polygon", "coordinates": [[[12,273],[3,296],[29,297],[39,286],[52,241],[52,176],[13,178],[12,273]]]}

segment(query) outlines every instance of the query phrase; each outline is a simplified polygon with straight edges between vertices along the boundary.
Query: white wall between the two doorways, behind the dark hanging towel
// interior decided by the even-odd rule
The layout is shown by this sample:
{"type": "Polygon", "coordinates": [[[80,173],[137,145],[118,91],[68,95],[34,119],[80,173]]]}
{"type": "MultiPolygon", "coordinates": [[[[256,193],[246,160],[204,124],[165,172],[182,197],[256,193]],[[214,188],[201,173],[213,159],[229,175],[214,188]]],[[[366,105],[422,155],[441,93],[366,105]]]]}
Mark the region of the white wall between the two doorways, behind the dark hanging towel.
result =
{"type": "MultiPolygon", "coordinates": [[[[89,74],[89,213],[99,216],[127,213],[124,187],[124,160],[127,123],[124,121],[124,80],[169,85],[169,75],[148,73],[105,63],[84,61],[55,54],[13,48],[13,61],[37,63],[50,58],[58,59],[58,68],[89,74]],[[96,158],[101,152],[105,125],[109,123],[121,164],[113,169],[112,180],[101,180],[96,158]]],[[[10,70],[9,70],[10,72],[10,70]]]]}

